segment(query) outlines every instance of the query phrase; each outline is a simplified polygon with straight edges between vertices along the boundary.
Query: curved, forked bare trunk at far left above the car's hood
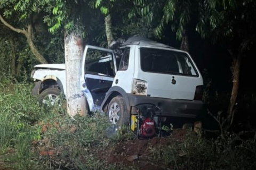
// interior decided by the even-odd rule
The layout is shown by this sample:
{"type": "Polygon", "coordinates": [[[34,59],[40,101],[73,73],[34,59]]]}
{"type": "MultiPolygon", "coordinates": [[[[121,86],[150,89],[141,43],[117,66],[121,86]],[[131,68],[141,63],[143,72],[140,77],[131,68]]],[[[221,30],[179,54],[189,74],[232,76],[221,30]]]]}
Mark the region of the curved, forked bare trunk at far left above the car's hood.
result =
{"type": "Polygon", "coordinates": [[[11,24],[9,24],[8,22],[6,22],[4,20],[4,18],[2,17],[2,15],[0,15],[0,21],[8,28],[10,28],[11,30],[15,31],[15,32],[18,32],[18,33],[23,33],[23,35],[26,36],[27,38],[27,42],[28,42],[28,45],[30,47],[30,50],[31,52],[35,55],[37,61],[39,61],[40,63],[42,64],[46,64],[47,61],[45,60],[45,58],[38,52],[35,44],[34,44],[34,41],[32,39],[33,37],[33,31],[32,31],[32,25],[31,23],[28,24],[27,28],[28,30],[24,30],[24,29],[17,29],[17,28],[14,28],[11,24]]]}

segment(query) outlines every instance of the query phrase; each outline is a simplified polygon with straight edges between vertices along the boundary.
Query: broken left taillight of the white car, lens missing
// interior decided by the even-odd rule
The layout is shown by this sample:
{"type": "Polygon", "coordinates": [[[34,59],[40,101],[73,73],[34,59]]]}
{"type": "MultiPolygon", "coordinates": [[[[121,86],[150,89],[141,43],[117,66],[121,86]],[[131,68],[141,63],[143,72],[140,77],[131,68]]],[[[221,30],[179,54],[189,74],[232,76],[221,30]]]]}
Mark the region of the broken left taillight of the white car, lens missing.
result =
{"type": "Polygon", "coordinates": [[[147,95],[147,82],[144,80],[133,79],[132,94],[133,95],[147,95]]]}

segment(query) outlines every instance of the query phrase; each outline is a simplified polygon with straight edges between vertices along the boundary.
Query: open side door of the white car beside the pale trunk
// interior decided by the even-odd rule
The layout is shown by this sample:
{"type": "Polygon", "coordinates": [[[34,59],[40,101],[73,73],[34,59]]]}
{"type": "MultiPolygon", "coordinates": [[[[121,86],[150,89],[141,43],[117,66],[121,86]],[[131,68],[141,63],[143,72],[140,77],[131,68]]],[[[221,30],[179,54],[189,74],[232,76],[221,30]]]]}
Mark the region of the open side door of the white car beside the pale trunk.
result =
{"type": "Polygon", "coordinates": [[[83,93],[90,111],[97,111],[117,71],[113,50],[86,45],[83,56],[83,93]]]}

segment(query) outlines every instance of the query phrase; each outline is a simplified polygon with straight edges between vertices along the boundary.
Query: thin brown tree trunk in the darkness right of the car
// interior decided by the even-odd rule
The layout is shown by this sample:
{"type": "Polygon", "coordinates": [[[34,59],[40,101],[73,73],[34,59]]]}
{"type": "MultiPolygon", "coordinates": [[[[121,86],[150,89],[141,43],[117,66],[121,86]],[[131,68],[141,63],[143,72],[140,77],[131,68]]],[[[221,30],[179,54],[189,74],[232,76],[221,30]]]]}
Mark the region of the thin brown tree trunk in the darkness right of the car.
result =
{"type": "Polygon", "coordinates": [[[241,60],[242,60],[242,56],[241,54],[238,54],[237,58],[233,57],[233,62],[231,65],[231,72],[233,75],[233,87],[232,87],[230,103],[228,107],[227,121],[229,125],[233,123],[234,107],[236,105],[236,99],[237,99],[238,88],[239,88],[239,73],[240,73],[240,67],[241,67],[241,60]]]}

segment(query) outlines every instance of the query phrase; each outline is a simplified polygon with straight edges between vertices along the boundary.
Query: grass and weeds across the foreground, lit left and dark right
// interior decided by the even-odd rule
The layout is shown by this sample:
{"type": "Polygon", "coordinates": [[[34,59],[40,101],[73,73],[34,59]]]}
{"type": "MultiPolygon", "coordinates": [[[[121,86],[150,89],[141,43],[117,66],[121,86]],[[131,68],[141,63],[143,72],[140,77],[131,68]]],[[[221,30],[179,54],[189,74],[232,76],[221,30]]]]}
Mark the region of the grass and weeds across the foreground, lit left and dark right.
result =
{"type": "MultiPolygon", "coordinates": [[[[109,163],[108,156],[102,155],[133,145],[136,140],[129,129],[118,129],[109,138],[105,115],[71,119],[63,107],[39,106],[31,95],[31,84],[0,87],[0,163],[4,163],[0,168],[139,169],[141,159],[109,163]]],[[[149,147],[146,160],[165,169],[256,169],[256,135],[250,134],[244,138],[228,133],[209,140],[189,131],[182,141],[171,136],[166,138],[169,142],[149,147]]]]}

